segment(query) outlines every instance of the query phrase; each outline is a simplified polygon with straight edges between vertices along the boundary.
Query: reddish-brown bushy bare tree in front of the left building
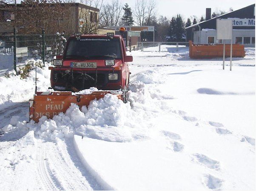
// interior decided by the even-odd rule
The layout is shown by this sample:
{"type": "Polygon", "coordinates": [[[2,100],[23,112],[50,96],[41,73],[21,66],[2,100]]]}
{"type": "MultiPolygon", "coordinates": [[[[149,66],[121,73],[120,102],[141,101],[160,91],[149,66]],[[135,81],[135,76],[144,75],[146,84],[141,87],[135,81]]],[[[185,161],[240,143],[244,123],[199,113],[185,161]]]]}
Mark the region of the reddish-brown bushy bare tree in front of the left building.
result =
{"type": "Polygon", "coordinates": [[[15,15],[11,23],[19,33],[38,34],[43,28],[46,33],[56,33],[57,21],[63,19],[64,9],[60,0],[24,0],[17,7],[11,6],[15,15]]]}

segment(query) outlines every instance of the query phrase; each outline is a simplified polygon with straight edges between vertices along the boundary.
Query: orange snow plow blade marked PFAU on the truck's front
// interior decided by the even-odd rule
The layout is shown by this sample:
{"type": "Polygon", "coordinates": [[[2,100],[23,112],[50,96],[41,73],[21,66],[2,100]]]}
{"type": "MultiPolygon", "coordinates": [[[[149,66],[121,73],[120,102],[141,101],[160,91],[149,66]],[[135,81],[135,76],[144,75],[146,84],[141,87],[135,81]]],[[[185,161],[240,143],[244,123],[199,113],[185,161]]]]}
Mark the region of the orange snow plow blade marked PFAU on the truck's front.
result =
{"type": "Polygon", "coordinates": [[[122,100],[122,94],[112,91],[92,91],[91,94],[73,94],[71,91],[36,92],[34,100],[29,100],[29,120],[38,122],[42,116],[52,119],[54,115],[65,111],[71,103],[80,108],[90,104],[91,100],[103,98],[105,94],[114,94],[122,100]]]}

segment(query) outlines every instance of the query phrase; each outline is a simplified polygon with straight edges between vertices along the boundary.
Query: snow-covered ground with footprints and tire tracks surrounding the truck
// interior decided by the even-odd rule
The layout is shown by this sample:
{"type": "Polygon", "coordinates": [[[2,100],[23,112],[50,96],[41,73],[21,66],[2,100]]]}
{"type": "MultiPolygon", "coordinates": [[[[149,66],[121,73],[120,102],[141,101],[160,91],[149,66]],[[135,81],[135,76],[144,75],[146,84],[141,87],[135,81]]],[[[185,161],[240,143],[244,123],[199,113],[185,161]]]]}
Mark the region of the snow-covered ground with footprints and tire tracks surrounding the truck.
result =
{"type": "Polygon", "coordinates": [[[108,94],[38,124],[26,122],[34,71],[0,78],[1,189],[254,190],[255,48],[232,71],[188,50],[128,54],[128,104],[108,94]]]}

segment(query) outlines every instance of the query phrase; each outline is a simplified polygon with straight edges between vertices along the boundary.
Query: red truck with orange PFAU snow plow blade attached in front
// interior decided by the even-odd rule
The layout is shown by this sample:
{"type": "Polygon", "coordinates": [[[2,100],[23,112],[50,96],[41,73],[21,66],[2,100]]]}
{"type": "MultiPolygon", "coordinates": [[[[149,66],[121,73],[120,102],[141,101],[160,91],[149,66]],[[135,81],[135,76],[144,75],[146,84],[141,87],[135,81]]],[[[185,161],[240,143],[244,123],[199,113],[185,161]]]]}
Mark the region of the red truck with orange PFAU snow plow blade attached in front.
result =
{"type": "MultiPolygon", "coordinates": [[[[52,118],[65,113],[71,103],[88,106],[91,100],[111,93],[127,102],[129,83],[128,62],[122,36],[107,35],[71,36],[63,55],[54,59],[51,70],[51,87],[54,91],[35,92],[29,102],[30,120],[38,122],[42,116],[52,118]],[[95,87],[91,91],[82,91],[95,87]]],[[[37,89],[37,88],[36,88],[37,89]]]]}

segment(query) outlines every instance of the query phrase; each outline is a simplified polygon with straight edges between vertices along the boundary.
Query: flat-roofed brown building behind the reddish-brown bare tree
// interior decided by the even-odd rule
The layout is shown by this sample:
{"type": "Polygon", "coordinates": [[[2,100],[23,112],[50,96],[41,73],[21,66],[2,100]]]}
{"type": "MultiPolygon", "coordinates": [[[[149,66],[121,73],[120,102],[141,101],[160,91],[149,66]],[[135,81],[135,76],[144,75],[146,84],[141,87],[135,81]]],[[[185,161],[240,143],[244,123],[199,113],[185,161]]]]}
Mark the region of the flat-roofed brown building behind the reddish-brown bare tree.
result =
{"type": "MultiPolygon", "coordinates": [[[[46,19],[44,23],[40,25],[40,28],[45,28],[46,33],[65,31],[66,35],[71,35],[78,32],[90,33],[92,30],[97,30],[99,18],[98,8],[81,3],[53,3],[51,6],[59,6],[60,8],[58,10],[63,14],[60,18],[46,19]]],[[[22,4],[17,4],[17,9],[23,10],[24,7],[22,4]]],[[[12,23],[15,22],[15,15],[12,10],[14,10],[14,4],[0,5],[0,34],[13,33],[14,25],[12,23]]],[[[19,12],[17,11],[17,13],[19,12]]],[[[23,23],[24,22],[21,22],[20,26],[17,27],[18,31],[19,28],[23,28],[23,23]]],[[[41,29],[39,31],[41,31],[41,29]]]]}

